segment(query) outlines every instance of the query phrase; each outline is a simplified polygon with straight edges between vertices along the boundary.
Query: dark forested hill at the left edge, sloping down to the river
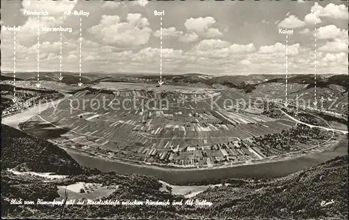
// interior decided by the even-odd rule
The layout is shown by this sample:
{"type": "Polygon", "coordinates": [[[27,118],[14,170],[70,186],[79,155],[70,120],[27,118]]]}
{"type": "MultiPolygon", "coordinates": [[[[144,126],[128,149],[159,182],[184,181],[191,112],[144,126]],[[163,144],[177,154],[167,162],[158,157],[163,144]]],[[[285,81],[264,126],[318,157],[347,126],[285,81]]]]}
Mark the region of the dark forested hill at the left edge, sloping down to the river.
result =
{"type": "Polygon", "coordinates": [[[66,151],[49,141],[1,124],[1,169],[21,164],[35,172],[70,175],[83,171],[66,151]]]}

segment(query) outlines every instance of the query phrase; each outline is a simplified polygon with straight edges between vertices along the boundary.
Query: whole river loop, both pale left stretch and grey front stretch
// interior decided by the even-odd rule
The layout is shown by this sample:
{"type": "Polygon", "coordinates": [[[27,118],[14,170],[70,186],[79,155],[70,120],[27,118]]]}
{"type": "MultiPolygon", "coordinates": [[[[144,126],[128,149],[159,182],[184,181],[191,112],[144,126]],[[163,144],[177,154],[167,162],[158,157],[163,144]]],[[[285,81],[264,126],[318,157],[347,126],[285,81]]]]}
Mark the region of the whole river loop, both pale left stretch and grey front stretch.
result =
{"type": "MultiPolygon", "coordinates": [[[[18,128],[19,123],[24,123],[29,118],[38,115],[41,111],[65,100],[70,94],[64,94],[65,97],[51,103],[44,103],[36,107],[32,107],[27,111],[18,113],[15,116],[3,118],[3,123],[18,128]]],[[[212,168],[172,168],[151,166],[145,164],[133,164],[121,160],[112,160],[100,155],[88,155],[71,148],[64,148],[73,159],[82,166],[89,168],[97,168],[101,171],[114,171],[120,174],[138,173],[142,175],[152,175],[168,182],[170,184],[200,184],[212,180],[223,180],[227,178],[277,178],[295,173],[304,168],[309,168],[316,164],[320,164],[336,156],[347,155],[348,139],[341,136],[341,141],[330,141],[329,147],[325,147],[316,151],[316,149],[306,154],[284,155],[285,157],[268,158],[255,162],[245,162],[244,164],[233,164],[228,166],[214,166],[212,168]]],[[[313,146],[311,148],[318,148],[313,146]]],[[[309,150],[311,149],[309,148],[309,150]]]]}

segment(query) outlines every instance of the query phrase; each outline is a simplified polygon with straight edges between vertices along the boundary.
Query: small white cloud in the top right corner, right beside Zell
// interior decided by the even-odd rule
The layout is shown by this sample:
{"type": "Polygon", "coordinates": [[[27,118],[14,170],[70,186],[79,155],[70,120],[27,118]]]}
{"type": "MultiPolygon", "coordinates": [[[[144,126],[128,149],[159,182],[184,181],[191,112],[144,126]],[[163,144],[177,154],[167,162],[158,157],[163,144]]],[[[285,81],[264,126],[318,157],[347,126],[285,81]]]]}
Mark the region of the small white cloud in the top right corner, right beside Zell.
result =
{"type": "Polygon", "coordinates": [[[335,5],[334,3],[329,3],[324,8],[315,2],[311,10],[318,12],[320,17],[330,17],[333,19],[348,19],[349,17],[348,7],[343,4],[335,5]]]}

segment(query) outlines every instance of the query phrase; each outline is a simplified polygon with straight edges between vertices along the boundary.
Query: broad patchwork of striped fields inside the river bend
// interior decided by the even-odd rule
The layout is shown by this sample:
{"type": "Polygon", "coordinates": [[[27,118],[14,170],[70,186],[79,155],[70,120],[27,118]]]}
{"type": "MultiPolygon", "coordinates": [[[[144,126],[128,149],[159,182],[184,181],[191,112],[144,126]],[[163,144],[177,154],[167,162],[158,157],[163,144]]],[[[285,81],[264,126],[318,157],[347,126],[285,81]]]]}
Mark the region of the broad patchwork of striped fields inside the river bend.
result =
{"type": "MultiPolygon", "coordinates": [[[[310,147],[302,141],[275,148],[256,143],[270,135],[286,143],[283,134],[292,139],[303,129],[286,116],[262,114],[262,107],[234,88],[103,82],[20,127],[92,156],[183,168],[251,162],[310,147]]],[[[305,133],[304,139],[328,138],[314,135],[305,133]]]]}

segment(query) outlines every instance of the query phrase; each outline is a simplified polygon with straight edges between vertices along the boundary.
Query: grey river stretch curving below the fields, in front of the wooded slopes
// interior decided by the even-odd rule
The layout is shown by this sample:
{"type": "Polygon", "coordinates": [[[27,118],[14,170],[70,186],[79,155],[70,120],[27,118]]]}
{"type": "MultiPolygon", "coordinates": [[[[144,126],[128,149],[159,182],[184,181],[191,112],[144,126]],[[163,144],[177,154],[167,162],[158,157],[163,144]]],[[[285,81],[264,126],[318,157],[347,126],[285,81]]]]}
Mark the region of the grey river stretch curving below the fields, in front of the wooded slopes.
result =
{"type": "Polygon", "coordinates": [[[302,157],[276,162],[246,164],[243,166],[220,167],[214,169],[158,168],[138,164],[126,164],[104,158],[82,155],[70,149],[65,150],[79,164],[89,168],[97,168],[105,172],[114,171],[119,174],[138,173],[142,175],[153,175],[170,184],[200,184],[200,182],[228,178],[283,177],[290,173],[301,171],[304,168],[326,162],[334,157],[348,155],[348,138],[347,136],[341,136],[341,141],[332,148],[327,148],[327,150],[322,152],[312,152],[302,157]]]}

